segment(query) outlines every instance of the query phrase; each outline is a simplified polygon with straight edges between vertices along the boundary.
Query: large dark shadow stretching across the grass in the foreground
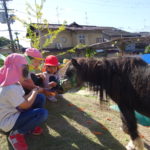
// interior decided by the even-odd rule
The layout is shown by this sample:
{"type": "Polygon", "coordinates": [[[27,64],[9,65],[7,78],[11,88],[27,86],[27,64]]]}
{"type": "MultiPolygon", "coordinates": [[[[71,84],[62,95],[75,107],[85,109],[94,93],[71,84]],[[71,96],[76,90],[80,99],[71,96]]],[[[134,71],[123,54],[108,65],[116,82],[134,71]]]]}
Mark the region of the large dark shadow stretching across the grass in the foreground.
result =
{"type": "MultiPolygon", "coordinates": [[[[86,136],[80,129],[71,125],[69,120],[88,128],[91,132],[100,126],[99,122],[84,111],[79,111],[80,108],[72,105],[67,99],[61,99],[57,103],[48,101],[46,108],[49,110],[49,118],[43,125],[44,134],[26,136],[29,150],[125,150],[108,130],[101,129],[104,134],[95,135],[98,142],[94,142],[90,136],[86,136]],[[87,124],[88,120],[92,121],[95,126],[87,124]],[[53,131],[57,133],[57,136],[51,134],[53,131]]],[[[11,145],[8,144],[8,146],[8,149],[12,150],[11,145]]]]}

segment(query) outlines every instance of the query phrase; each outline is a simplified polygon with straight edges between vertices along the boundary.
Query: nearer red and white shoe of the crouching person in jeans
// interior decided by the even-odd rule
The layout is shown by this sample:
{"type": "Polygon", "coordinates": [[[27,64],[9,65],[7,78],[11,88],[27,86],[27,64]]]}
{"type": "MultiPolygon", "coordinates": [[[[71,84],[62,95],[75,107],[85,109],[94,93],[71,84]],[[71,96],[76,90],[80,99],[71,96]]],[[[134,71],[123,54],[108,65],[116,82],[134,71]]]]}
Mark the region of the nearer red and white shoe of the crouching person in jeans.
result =
{"type": "Polygon", "coordinates": [[[18,132],[10,133],[8,140],[11,143],[14,150],[28,150],[28,145],[24,139],[24,135],[18,132]]]}

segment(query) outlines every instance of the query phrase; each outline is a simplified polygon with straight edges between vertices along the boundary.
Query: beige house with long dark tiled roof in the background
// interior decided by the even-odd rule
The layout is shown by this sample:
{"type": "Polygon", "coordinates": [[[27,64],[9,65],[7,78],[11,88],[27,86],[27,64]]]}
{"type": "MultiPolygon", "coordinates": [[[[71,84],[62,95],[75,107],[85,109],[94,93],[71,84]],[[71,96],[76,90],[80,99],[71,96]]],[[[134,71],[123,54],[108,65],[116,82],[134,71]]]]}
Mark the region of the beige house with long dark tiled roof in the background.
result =
{"type": "MultiPolygon", "coordinates": [[[[47,38],[51,38],[50,35],[44,36],[47,34],[47,27],[54,31],[58,29],[62,24],[49,24],[48,26],[43,26],[43,24],[41,25],[41,31],[37,31],[36,29],[34,29],[32,24],[30,26],[30,29],[36,32],[37,35],[40,34],[40,44],[43,45],[47,38]]],[[[65,52],[66,50],[74,48],[79,44],[88,46],[96,43],[109,42],[116,38],[126,37],[134,38],[141,37],[141,35],[138,33],[130,33],[114,27],[79,25],[76,22],[73,22],[70,25],[65,25],[65,30],[60,32],[57,35],[56,39],[54,39],[53,43],[49,44],[46,48],[44,48],[44,50],[57,55],[58,53],[65,52]]],[[[135,47],[136,45],[134,43],[131,43],[126,45],[126,50],[133,51],[135,47]]]]}

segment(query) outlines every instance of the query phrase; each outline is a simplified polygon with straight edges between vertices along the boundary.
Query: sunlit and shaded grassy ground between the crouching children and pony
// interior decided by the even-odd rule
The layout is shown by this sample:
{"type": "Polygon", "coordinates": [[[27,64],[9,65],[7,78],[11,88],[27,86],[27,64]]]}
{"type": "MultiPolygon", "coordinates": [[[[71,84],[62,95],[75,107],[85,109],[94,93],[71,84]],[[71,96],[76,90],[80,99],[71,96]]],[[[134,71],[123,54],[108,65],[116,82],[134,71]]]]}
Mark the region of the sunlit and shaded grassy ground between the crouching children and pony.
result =
{"type": "MultiPolygon", "coordinates": [[[[47,101],[46,108],[44,133],[26,136],[29,150],[125,150],[129,136],[119,129],[119,114],[100,109],[98,99],[65,94],[57,103],[47,101]]],[[[5,135],[0,139],[0,150],[12,150],[5,135]]]]}

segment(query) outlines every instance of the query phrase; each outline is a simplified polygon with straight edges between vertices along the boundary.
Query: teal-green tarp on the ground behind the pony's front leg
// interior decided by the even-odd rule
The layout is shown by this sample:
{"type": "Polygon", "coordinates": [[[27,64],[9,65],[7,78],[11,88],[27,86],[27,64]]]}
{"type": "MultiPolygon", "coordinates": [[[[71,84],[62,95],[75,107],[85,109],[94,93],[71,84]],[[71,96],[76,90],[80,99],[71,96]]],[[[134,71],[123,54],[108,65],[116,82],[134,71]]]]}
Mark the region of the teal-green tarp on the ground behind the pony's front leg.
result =
{"type": "MultiPolygon", "coordinates": [[[[110,106],[111,109],[115,111],[120,111],[117,105],[110,106]]],[[[135,117],[137,119],[137,122],[143,126],[150,126],[150,118],[146,117],[138,112],[135,111],[135,117]]]]}

